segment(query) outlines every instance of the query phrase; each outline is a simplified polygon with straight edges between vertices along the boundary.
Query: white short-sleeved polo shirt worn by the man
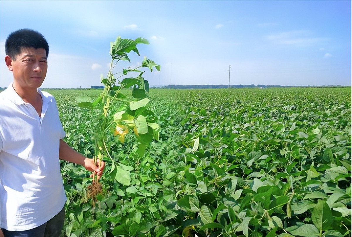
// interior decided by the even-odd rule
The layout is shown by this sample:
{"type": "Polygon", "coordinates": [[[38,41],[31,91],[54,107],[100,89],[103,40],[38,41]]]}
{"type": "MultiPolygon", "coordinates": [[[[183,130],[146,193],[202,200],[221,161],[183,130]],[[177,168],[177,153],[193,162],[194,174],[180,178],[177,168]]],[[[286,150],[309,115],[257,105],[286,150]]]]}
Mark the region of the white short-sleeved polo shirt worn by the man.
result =
{"type": "Polygon", "coordinates": [[[66,201],[59,164],[65,132],[54,97],[38,93],[40,118],[12,84],[0,93],[0,226],[9,231],[44,224],[66,201]]]}

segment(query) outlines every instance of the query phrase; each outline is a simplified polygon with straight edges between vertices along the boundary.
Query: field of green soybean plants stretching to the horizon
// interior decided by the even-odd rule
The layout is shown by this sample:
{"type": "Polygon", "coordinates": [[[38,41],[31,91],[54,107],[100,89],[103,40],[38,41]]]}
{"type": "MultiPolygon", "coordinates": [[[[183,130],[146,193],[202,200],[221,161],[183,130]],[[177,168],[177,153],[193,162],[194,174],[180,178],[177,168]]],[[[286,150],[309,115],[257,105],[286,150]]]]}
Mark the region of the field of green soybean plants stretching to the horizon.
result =
{"type": "MultiPolygon", "coordinates": [[[[65,141],[93,157],[95,112],[75,98],[101,91],[49,92],[65,141]]],[[[133,131],[124,143],[112,131],[101,193],[91,197],[90,174],[61,161],[64,236],[351,236],[351,87],[149,98],[158,137],[141,154],[133,131]]]]}

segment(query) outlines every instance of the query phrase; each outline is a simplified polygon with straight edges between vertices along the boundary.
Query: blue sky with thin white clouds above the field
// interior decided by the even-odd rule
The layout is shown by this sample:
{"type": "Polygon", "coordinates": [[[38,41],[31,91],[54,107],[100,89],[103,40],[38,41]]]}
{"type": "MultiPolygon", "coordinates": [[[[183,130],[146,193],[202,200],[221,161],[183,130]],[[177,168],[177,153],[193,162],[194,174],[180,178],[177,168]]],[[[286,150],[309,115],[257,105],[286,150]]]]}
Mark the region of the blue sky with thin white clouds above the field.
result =
{"type": "MultiPolygon", "coordinates": [[[[0,1],[0,57],[12,31],[50,46],[45,88],[99,86],[116,37],[143,37],[150,85],[351,85],[351,1],[0,1]]],[[[0,64],[0,87],[12,73],[0,64]]]]}

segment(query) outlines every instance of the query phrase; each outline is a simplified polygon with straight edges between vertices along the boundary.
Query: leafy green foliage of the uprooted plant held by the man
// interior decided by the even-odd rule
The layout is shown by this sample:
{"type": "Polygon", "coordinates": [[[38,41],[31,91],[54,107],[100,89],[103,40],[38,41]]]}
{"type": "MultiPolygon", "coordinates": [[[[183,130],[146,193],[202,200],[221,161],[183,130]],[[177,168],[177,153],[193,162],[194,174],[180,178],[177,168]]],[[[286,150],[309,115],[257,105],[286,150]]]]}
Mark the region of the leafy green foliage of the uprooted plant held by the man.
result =
{"type": "MultiPolygon", "coordinates": [[[[149,96],[149,83],[142,77],[144,72],[137,70],[139,67],[147,67],[150,71],[152,71],[153,68],[160,70],[160,66],[144,57],[141,66],[134,69],[123,69],[122,75],[117,78],[115,78],[115,75],[118,73],[113,73],[113,68],[115,67],[113,63],[116,65],[120,60],[130,61],[128,57],[129,52],[134,51],[139,56],[137,44],[141,43],[149,44],[148,40],[143,38],[132,40],[118,37],[115,42],[111,42],[111,66],[106,78],[101,76],[101,82],[104,84],[103,91],[94,101],[89,96],[80,95],[76,98],[79,107],[101,111],[100,113],[92,113],[94,116],[90,119],[95,131],[93,136],[95,142],[94,159],[99,158],[100,160],[106,160],[107,158],[111,158],[113,163],[110,172],[113,173],[116,169],[117,175],[115,176],[115,180],[124,185],[130,185],[130,180],[127,179],[127,176],[130,174],[128,170],[123,170],[120,166],[115,164],[115,159],[111,155],[111,146],[117,141],[116,139],[109,140],[109,134],[112,133],[114,136],[117,136],[119,142],[124,143],[125,136],[129,132],[129,129],[133,129],[138,137],[139,144],[144,145],[152,141],[153,135],[155,138],[158,138],[160,130],[158,124],[155,123],[155,117],[151,116],[152,111],[146,110],[145,107],[150,101],[147,98],[149,96]],[[124,78],[121,82],[118,82],[119,86],[115,85],[120,77],[131,72],[140,72],[140,74],[137,77],[124,78]],[[132,86],[133,99],[127,100],[126,96],[121,93],[121,90],[132,86]],[[125,106],[123,106],[123,104],[125,104],[125,106]],[[129,107],[126,105],[129,105],[129,107]],[[151,123],[153,125],[150,125],[151,123]],[[122,176],[120,176],[120,174],[122,174],[122,176]]],[[[144,149],[140,149],[138,155],[142,156],[144,151],[144,149]]]]}

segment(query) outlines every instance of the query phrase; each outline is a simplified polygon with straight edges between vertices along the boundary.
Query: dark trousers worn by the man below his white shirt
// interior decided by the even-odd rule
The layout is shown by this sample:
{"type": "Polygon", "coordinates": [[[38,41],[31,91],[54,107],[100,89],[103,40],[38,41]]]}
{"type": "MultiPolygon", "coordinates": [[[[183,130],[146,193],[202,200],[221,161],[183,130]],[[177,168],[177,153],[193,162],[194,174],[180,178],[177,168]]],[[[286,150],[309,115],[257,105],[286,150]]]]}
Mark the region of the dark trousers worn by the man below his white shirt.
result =
{"type": "Polygon", "coordinates": [[[5,237],[59,237],[65,220],[65,209],[56,214],[48,222],[31,230],[8,231],[2,229],[5,237]]]}

